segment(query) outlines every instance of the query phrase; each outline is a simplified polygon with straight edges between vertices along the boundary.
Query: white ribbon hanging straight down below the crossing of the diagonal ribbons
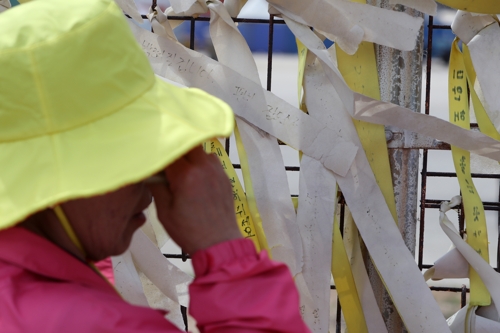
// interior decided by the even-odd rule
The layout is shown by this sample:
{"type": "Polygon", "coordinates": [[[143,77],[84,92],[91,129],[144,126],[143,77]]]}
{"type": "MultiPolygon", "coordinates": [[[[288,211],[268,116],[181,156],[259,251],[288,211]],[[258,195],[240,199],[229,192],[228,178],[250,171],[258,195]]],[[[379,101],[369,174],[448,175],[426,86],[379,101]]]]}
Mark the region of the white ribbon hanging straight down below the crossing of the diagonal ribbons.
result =
{"type": "Polygon", "coordinates": [[[298,286],[302,316],[313,332],[327,332],[330,321],[329,268],[336,198],[337,183],[333,173],[319,161],[303,155],[297,222],[304,245],[304,266],[300,275],[305,285],[298,283],[298,286]]]}

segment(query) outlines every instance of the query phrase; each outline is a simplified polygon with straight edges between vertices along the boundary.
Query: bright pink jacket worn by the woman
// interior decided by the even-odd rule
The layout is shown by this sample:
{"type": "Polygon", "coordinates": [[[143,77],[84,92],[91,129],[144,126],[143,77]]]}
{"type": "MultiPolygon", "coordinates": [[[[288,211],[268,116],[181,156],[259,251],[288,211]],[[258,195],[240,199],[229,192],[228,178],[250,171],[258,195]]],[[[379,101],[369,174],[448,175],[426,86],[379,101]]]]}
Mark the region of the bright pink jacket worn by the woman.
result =
{"type": "MultiPolygon", "coordinates": [[[[193,266],[189,311],[201,332],[309,332],[287,267],[251,241],[198,251],[193,266]]],[[[0,332],[181,332],[163,314],[126,303],[48,240],[0,231],[0,332]]]]}

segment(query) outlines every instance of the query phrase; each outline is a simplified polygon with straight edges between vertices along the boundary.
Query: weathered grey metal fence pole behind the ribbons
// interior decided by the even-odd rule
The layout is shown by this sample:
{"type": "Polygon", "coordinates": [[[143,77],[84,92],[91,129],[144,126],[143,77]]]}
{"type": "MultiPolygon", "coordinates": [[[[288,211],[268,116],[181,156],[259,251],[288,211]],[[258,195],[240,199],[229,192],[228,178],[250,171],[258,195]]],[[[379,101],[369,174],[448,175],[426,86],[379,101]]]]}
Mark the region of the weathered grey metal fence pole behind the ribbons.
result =
{"type": "MultiPolygon", "coordinates": [[[[401,5],[389,5],[388,0],[368,0],[368,3],[377,7],[404,12],[414,17],[423,17],[422,13],[414,9],[401,5]]],[[[398,104],[415,112],[420,112],[423,45],[423,27],[420,30],[417,44],[413,51],[403,52],[376,45],[375,50],[382,101],[398,104]]],[[[411,146],[411,142],[416,140],[415,134],[407,133],[398,128],[387,127],[386,131],[394,133],[394,135],[390,135],[392,140],[402,141],[402,144],[398,145],[400,147],[411,146]]],[[[390,149],[389,160],[396,198],[399,230],[406,246],[415,255],[419,150],[390,149]]],[[[373,264],[369,260],[365,262],[368,263],[368,273],[387,330],[390,333],[405,332],[404,325],[373,264]]]]}

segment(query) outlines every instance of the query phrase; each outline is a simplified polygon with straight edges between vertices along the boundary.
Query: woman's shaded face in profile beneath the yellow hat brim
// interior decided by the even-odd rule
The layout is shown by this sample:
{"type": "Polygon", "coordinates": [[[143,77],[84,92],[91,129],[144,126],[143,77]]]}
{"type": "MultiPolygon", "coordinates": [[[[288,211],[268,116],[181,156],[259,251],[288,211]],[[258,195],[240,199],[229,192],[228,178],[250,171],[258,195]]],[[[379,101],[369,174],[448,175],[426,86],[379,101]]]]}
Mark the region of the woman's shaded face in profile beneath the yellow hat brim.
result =
{"type": "Polygon", "coordinates": [[[63,203],[87,259],[98,261],[123,253],[134,232],[144,224],[143,210],[151,203],[143,182],[90,198],[63,203]]]}

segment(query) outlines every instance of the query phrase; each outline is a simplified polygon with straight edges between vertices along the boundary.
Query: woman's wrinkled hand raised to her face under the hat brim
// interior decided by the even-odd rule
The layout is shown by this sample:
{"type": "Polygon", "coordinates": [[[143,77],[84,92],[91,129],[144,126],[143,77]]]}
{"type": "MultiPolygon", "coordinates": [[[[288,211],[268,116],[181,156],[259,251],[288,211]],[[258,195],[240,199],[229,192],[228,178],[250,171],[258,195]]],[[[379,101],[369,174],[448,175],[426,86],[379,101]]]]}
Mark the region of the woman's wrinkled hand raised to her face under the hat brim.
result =
{"type": "Polygon", "coordinates": [[[165,169],[169,185],[149,185],[158,219],[189,254],[241,238],[231,185],[219,159],[197,147],[165,169]]]}

